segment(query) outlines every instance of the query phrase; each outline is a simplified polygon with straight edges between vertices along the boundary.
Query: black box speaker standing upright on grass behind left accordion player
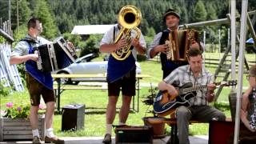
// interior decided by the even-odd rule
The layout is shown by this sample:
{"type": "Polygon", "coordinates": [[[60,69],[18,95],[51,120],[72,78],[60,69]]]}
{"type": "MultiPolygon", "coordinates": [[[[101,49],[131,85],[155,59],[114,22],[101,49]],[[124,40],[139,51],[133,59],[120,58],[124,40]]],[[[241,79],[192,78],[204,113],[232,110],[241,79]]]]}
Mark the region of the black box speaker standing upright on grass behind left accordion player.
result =
{"type": "Polygon", "coordinates": [[[62,108],[62,131],[83,129],[85,105],[68,105],[62,108]]]}

